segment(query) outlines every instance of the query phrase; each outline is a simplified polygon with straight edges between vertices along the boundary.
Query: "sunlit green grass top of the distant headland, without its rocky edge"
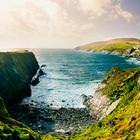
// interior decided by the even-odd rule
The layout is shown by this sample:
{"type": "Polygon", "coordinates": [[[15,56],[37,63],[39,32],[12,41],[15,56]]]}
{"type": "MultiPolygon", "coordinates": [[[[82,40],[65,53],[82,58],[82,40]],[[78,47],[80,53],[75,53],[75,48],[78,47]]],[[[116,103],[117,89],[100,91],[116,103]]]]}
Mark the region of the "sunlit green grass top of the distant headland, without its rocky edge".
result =
{"type": "Polygon", "coordinates": [[[127,49],[134,46],[140,46],[140,40],[134,38],[122,38],[113,39],[108,41],[94,42],[87,45],[78,47],[79,50],[85,51],[108,51],[113,52],[114,50],[123,54],[127,49]]]}

